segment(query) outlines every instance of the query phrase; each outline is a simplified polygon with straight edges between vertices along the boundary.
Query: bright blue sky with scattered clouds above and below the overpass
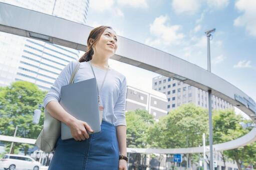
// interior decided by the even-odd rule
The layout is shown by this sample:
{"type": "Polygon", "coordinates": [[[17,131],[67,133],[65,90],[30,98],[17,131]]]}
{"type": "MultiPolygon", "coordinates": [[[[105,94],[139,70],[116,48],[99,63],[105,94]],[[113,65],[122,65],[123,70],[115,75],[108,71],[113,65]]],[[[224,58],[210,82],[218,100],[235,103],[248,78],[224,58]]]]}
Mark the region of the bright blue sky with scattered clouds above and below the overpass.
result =
{"type": "MultiPolygon", "coordinates": [[[[211,71],[256,100],[256,0],[91,0],[87,19],[87,25],[110,25],[118,35],[205,69],[204,32],[216,28],[211,71]]],[[[151,88],[158,75],[115,60],[109,64],[126,75],[128,85],[151,88]]]]}

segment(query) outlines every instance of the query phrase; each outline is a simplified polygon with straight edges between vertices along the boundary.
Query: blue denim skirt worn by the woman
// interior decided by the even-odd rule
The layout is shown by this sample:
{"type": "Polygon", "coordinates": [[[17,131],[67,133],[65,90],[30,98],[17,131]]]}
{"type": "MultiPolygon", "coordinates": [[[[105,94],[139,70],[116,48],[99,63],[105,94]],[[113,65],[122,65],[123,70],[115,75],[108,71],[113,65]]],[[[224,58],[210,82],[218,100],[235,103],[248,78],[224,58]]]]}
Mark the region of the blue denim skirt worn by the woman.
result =
{"type": "Polygon", "coordinates": [[[77,141],[74,138],[55,144],[49,170],[97,170],[118,169],[119,147],[116,126],[102,120],[101,131],[89,134],[89,138],[77,141]]]}

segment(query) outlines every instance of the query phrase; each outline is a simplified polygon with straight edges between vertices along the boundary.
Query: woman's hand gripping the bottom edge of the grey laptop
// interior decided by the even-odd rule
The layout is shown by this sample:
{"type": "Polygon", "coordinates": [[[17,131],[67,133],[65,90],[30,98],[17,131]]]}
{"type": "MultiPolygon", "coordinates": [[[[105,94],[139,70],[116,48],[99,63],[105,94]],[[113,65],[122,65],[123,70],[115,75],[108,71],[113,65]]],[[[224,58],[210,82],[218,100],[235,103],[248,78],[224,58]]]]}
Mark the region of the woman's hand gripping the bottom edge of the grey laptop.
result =
{"type": "Polygon", "coordinates": [[[89,126],[89,124],[85,121],[79,120],[79,119],[73,119],[68,124],[72,136],[75,138],[75,140],[85,140],[85,138],[89,138],[89,134],[87,133],[87,130],[93,132],[92,128],[89,126]]]}

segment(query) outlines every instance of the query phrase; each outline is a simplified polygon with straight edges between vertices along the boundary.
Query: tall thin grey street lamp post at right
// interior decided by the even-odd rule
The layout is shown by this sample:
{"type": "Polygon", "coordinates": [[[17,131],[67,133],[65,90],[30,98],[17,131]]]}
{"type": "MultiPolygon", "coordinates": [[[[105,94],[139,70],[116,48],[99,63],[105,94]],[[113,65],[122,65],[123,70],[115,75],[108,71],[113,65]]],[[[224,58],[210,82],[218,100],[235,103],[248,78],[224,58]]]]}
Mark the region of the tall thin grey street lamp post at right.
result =
{"type": "MultiPolygon", "coordinates": [[[[205,32],[207,36],[207,70],[211,72],[210,63],[210,36],[211,32],[216,29],[211,29],[205,32]]],[[[212,149],[212,113],[211,113],[211,89],[208,89],[208,110],[209,110],[209,141],[210,141],[210,170],[213,170],[213,149],[212,149]]]]}

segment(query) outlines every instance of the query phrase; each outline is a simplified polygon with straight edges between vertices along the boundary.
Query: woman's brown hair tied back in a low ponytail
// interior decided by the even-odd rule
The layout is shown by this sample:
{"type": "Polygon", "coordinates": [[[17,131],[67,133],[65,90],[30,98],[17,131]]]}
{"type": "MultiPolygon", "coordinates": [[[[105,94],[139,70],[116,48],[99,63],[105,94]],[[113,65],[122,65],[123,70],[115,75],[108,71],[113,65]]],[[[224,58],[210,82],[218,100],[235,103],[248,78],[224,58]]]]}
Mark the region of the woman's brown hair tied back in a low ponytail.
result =
{"type": "Polygon", "coordinates": [[[105,31],[105,29],[110,28],[113,30],[113,28],[111,26],[98,26],[94,29],[91,30],[88,39],[87,39],[87,46],[88,49],[87,51],[79,58],[79,62],[84,62],[84,61],[90,61],[92,59],[93,56],[93,48],[92,46],[95,45],[99,40],[100,40],[100,36],[102,35],[102,33],[105,31]],[[90,44],[89,39],[92,38],[94,39],[94,41],[92,42],[92,44],[90,44]]]}

